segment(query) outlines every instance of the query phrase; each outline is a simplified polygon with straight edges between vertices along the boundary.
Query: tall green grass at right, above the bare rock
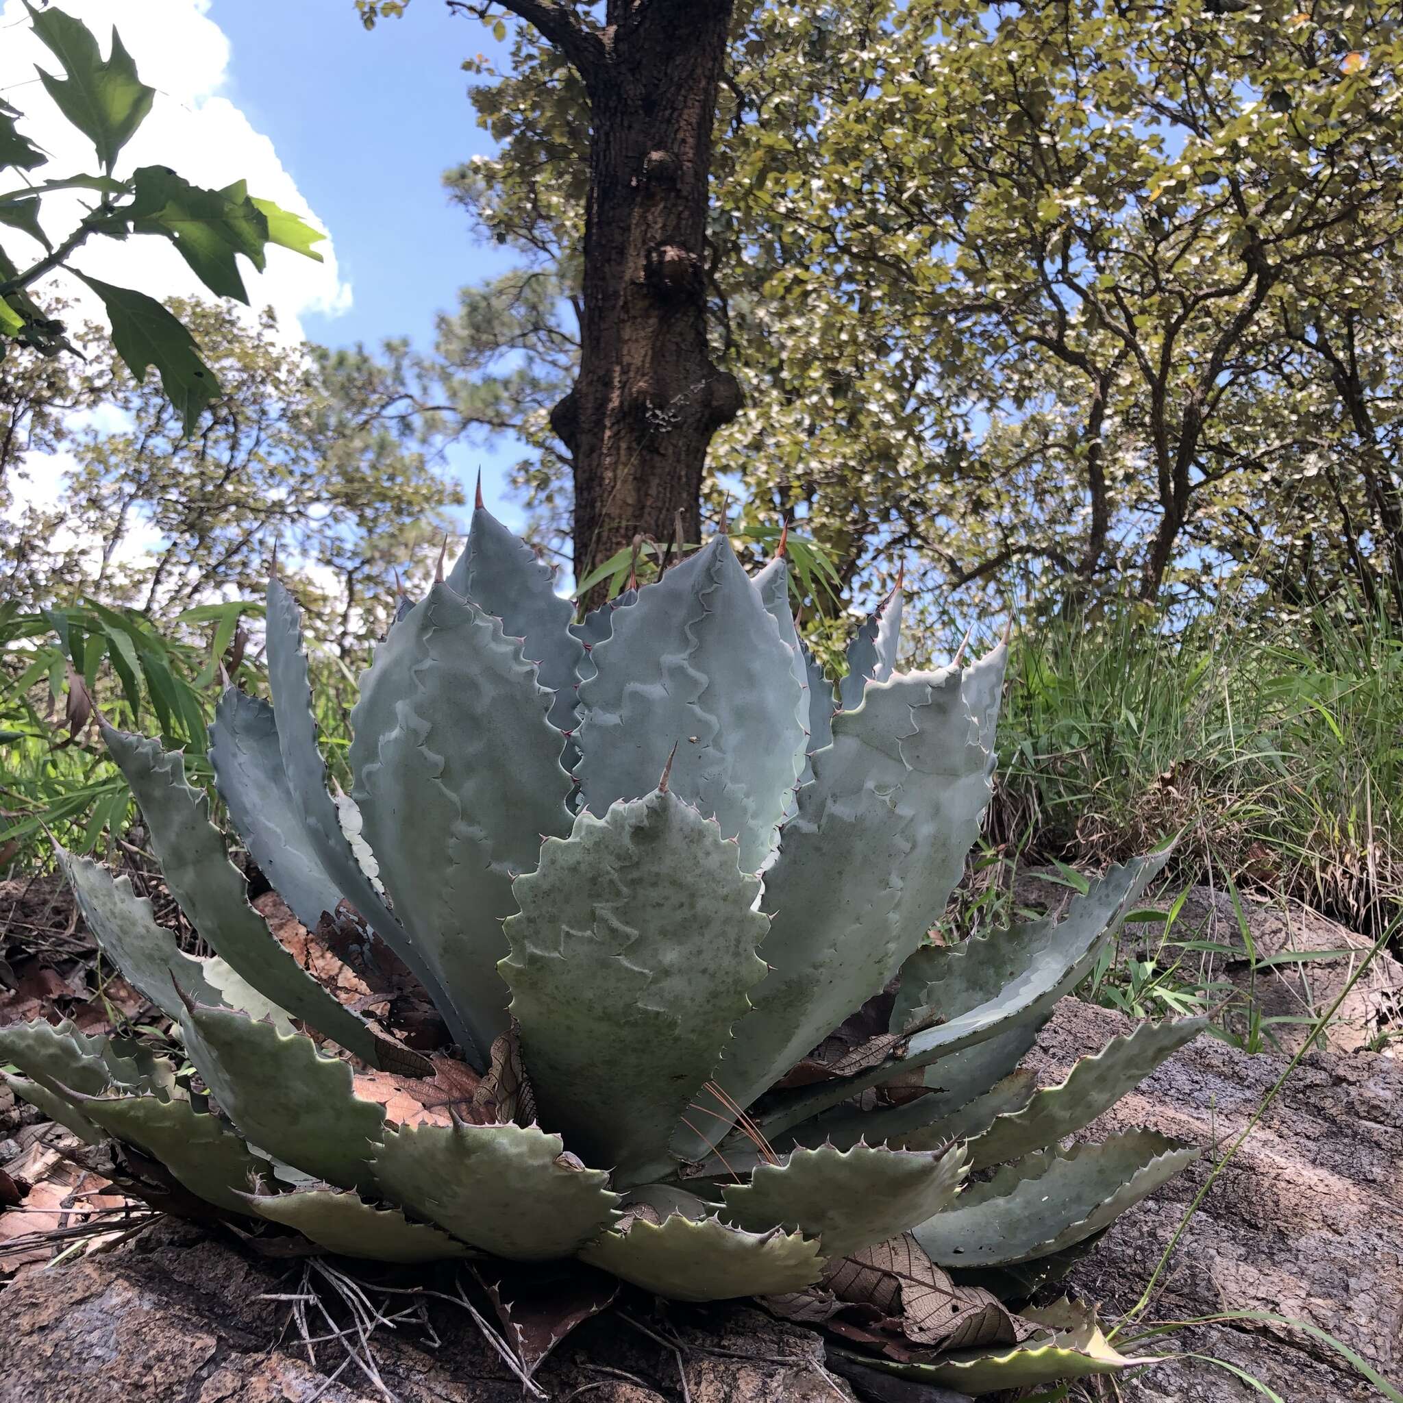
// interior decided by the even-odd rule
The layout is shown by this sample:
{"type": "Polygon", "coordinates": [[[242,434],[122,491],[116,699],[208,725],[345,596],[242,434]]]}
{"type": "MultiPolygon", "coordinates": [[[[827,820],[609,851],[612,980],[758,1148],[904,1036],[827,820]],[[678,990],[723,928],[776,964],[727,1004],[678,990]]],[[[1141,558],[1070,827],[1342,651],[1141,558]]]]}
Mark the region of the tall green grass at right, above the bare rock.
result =
{"type": "Polygon", "coordinates": [[[989,835],[1100,861],[1180,833],[1174,871],[1374,933],[1403,885],[1403,633],[1347,603],[1177,633],[1131,607],[1016,640],[989,835]]]}

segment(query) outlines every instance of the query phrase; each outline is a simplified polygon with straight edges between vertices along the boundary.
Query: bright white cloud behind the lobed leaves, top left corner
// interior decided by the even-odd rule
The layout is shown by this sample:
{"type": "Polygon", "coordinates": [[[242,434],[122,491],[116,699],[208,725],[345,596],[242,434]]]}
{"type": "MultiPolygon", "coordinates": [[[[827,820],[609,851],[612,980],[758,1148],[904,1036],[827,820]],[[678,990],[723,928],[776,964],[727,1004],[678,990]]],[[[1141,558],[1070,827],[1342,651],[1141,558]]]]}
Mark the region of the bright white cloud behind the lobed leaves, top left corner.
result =
{"type": "MultiPolygon", "coordinates": [[[[170,166],[195,185],[220,188],[247,180],[248,191],[325,229],[283,168],[272,142],[255,132],[248,118],[220,95],[229,72],[229,39],[209,18],[209,0],[63,0],[63,8],[97,35],[104,55],[112,27],[136,62],[156,101],[140,130],[123,147],[118,175],[137,166],[170,166]]],[[[59,114],[35,74],[35,66],[62,76],[62,66],[34,36],[22,0],[3,0],[0,8],[0,95],[25,114],[21,130],[49,153],[36,180],[91,173],[97,161],[91,145],[59,114]]],[[[7,182],[8,184],[8,182],[7,182]]],[[[48,196],[45,229],[53,237],[72,230],[81,215],[80,196],[48,196]]],[[[6,230],[6,243],[29,243],[6,230]]],[[[29,244],[35,254],[39,246],[29,244]]],[[[257,274],[240,260],[254,307],[272,304],[283,335],[302,338],[300,317],[307,311],[335,314],[351,304],[351,288],[337,271],[331,240],[317,246],[323,262],[283,248],[268,250],[268,268],[257,274]]],[[[108,282],[137,288],[153,297],[201,293],[202,285],[159,237],[125,243],[94,239],[73,257],[73,265],[108,282]]],[[[73,279],[56,279],[70,299],[83,295],[83,310],[101,320],[95,299],[73,279]]],[[[208,296],[208,293],[205,293],[208,296]]]]}

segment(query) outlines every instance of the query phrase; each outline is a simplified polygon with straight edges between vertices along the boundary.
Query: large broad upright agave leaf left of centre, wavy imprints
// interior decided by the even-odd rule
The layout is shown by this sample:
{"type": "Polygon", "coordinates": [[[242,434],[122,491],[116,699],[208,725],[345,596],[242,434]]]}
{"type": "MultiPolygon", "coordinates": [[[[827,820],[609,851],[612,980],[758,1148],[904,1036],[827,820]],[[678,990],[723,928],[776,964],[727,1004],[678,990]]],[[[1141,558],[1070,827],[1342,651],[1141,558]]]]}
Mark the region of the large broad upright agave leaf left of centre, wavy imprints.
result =
{"type": "Polygon", "coordinates": [[[501,620],[435,585],[375,650],[351,713],[351,797],[380,878],[484,1049],[506,1030],[512,878],[570,832],[549,706],[501,620]]]}

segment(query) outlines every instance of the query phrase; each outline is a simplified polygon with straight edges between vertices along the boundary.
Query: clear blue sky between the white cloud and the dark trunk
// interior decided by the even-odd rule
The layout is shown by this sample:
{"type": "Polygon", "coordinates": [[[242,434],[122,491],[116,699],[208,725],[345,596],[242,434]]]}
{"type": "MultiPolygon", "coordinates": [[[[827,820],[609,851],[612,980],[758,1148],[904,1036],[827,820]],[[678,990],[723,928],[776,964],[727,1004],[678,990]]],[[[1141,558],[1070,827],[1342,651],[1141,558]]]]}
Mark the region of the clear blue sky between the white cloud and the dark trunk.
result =
{"type": "MultiPolygon", "coordinates": [[[[330,345],[408,335],[428,348],[435,311],[463,283],[501,272],[509,257],[473,237],[443,171],[492,150],[467,100],[469,55],[505,62],[505,45],[441,0],[414,0],[400,20],[362,28],[352,0],[213,0],[230,41],[224,95],[268,136],[335,243],[351,307],[309,310],[310,340],[330,345]]],[[[509,445],[457,448],[452,470],[484,491],[509,523],[509,445]]]]}

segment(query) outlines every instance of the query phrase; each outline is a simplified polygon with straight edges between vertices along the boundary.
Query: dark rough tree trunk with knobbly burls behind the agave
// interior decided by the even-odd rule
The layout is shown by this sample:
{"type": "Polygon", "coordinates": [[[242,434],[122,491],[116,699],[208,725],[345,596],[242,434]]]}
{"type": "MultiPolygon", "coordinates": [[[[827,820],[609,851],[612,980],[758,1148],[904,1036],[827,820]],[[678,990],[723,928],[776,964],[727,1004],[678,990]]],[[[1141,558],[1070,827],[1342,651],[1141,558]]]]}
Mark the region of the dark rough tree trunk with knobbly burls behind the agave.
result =
{"type": "Polygon", "coordinates": [[[589,94],[579,373],[551,411],[575,478],[575,578],[634,536],[702,529],[702,466],[741,391],[707,355],[711,128],[732,0],[609,0],[598,28],[504,0],[589,94]]]}

